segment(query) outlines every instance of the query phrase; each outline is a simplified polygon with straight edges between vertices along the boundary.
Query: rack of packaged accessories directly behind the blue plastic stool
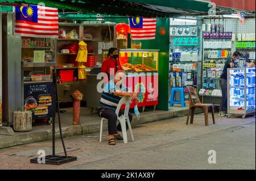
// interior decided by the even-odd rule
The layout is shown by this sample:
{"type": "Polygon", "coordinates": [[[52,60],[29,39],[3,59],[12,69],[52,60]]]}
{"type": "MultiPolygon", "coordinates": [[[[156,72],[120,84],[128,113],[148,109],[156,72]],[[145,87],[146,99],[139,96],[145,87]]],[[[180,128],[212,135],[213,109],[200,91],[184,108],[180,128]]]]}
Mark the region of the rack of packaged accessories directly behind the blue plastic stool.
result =
{"type": "MultiPolygon", "coordinates": [[[[185,100],[189,97],[186,86],[197,87],[201,84],[201,20],[195,23],[170,22],[170,91],[172,87],[183,87],[185,100]]],[[[179,92],[175,99],[179,98],[179,92]]]]}

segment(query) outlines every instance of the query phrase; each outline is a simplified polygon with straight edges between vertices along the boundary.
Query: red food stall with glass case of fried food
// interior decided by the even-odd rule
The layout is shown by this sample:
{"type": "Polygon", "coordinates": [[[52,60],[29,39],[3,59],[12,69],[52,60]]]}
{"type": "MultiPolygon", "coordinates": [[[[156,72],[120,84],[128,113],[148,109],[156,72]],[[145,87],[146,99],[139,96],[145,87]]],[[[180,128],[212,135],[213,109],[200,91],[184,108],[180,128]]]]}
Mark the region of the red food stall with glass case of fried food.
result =
{"type": "MultiPolygon", "coordinates": [[[[104,59],[108,54],[103,50],[104,59]]],[[[120,49],[119,61],[126,71],[126,87],[129,91],[139,92],[138,107],[158,105],[158,64],[159,50],[120,49]]],[[[135,102],[131,104],[131,108],[135,102]]]]}

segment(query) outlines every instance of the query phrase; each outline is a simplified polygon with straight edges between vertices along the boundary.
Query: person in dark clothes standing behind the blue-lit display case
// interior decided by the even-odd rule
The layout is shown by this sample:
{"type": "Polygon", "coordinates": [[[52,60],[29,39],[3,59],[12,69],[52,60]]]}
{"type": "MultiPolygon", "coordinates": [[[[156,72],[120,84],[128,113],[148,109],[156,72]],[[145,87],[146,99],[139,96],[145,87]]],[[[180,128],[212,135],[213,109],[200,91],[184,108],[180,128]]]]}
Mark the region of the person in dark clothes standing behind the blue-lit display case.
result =
{"type": "Polygon", "coordinates": [[[220,87],[222,92],[222,98],[221,98],[221,106],[220,106],[220,112],[218,113],[218,116],[226,116],[227,110],[228,110],[228,69],[230,68],[237,68],[237,63],[240,60],[241,53],[236,51],[233,53],[233,56],[228,58],[226,61],[226,64],[224,66],[223,72],[221,74],[220,79],[220,87]]]}

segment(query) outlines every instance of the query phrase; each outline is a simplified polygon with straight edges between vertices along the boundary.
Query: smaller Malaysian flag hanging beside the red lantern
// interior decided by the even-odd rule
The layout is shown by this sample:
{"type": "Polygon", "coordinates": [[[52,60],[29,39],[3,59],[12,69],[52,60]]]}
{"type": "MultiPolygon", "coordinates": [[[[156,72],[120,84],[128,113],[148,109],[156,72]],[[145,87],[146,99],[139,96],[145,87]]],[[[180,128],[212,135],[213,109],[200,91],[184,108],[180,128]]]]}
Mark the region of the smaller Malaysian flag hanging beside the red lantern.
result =
{"type": "Polygon", "coordinates": [[[152,40],[155,39],[156,18],[129,18],[131,39],[152,40]]]}

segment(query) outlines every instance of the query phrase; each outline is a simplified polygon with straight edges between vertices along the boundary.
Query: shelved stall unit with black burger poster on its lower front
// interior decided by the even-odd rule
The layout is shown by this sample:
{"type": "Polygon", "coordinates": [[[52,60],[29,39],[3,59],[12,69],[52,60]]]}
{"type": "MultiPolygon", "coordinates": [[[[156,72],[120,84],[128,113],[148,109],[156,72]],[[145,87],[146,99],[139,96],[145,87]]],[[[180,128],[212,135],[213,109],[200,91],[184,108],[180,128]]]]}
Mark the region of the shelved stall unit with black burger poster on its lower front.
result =
{"type": "Polygon", "coordinates": [[[56,65],[55,39],[21,37],[22,95],[25,111],[35,121],[51,124],[54,113],[51,70],[56,65]]]}

